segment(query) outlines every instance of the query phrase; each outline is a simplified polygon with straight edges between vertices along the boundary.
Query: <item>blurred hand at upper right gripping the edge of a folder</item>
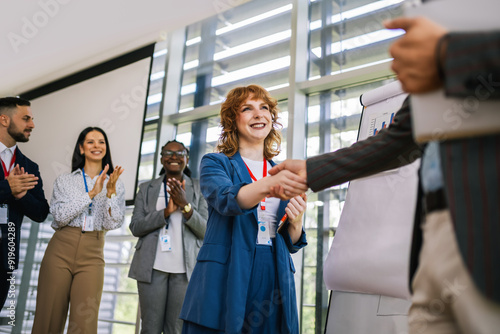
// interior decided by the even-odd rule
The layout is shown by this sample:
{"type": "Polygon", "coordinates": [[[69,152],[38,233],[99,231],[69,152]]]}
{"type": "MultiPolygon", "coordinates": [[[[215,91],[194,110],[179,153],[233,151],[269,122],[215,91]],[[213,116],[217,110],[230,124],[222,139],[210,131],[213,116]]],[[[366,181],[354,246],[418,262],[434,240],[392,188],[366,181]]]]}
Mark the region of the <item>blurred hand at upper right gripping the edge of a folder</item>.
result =
{"type": "Polygon", "coordinates": [[[447,30],[423,17],[397,18],[384,25],[387,29],[406,31],[389,49],[394,57],[392,70],[403,90],[425,93],[441,87],[443,82],[438,72],[436,46],[447,30]]]}

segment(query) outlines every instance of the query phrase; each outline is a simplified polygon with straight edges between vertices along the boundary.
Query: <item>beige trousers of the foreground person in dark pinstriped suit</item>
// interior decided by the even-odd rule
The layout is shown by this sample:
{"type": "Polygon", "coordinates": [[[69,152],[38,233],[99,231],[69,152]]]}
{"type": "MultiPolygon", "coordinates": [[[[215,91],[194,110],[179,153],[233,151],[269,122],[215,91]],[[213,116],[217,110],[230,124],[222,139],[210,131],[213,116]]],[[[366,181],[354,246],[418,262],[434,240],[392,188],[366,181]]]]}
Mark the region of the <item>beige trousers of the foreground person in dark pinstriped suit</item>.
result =
{"type": "Polygon", "coordinates": [[[427,215],[412,282],[411,334],[500,333],[500,305],[474,285],[459,253],[448,210],[427,215]]]}

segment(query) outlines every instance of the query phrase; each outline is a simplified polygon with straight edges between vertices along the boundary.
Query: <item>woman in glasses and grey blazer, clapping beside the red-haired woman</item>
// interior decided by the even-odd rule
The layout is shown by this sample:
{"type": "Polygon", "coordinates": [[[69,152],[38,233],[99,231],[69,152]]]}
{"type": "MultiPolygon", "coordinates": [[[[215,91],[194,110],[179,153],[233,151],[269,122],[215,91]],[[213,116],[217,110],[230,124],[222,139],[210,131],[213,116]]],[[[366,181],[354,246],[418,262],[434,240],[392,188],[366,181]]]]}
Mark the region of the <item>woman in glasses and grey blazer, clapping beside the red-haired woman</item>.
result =
{"type": "Polygon", "coordinates": [[[130,230],[139,240],[129,277],[137,280],[143,334],[182,330],[179,313],[208,218],[188,155],[178,141],[165,144],[160,177],[141,184],[135,199],[130,230]]]}

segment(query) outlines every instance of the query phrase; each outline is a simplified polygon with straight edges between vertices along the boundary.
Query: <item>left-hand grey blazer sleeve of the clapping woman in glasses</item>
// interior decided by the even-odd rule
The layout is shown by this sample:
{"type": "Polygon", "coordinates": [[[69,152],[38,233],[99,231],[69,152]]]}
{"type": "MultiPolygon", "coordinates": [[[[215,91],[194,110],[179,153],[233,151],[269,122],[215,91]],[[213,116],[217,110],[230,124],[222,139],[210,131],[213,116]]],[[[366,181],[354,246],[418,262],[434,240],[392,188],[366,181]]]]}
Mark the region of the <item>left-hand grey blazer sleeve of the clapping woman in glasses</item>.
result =
{"type": "MultiPolygon", "coordinates": [[[[163,210],[149,212],[146,194],[151,183],[143,183],[135,197],[134,212],[130,221],[130,231],[135,237],[143,237],[160,227],[166,226],[163,210]]],[[[155,197],[156,199],[156,197],[155,197]]]]}

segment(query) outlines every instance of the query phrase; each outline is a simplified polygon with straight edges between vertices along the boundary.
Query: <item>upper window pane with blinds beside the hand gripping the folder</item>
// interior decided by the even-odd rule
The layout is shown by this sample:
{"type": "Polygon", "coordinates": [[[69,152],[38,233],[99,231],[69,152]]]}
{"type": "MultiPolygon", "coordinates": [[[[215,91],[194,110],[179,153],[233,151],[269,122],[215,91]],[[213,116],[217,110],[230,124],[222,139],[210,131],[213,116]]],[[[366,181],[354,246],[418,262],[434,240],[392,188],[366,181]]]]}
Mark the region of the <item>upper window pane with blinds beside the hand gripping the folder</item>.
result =
{"type": "Polygon", "coordinates": [[[310,3],[309,78],[389,61],[403,32],[383,21],[402,14],[404,0],[317,0],[310,3]]]}

